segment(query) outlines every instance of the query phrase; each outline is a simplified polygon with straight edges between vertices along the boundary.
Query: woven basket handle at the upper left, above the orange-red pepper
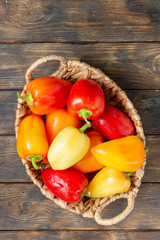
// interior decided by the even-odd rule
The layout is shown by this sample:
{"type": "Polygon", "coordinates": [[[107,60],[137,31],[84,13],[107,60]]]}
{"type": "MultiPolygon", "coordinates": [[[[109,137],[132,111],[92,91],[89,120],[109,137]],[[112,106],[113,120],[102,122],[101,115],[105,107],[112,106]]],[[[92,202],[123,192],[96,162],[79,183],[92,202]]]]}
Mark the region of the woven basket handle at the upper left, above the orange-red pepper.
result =
{"type": "MultiPolygon", "coordinates": [[[[26,83],[30,83],[30,81],[33,80],[33,76],[32,76],[32,72],[41,64],[46,63],[48,61],[52,61],[52,60],[58,60],[60,61],[60,66],[59,69],[54,73],[58,73],[61,72],[61,74],[63,75],[66,71],[67,71],[67,59],[65,57],[62,56],[58,56],[58,55],[49,55],[49,56],[45,56],[45,57],[41,57],[38,60],[36,60],[35,62],[33,62],[30,67],[27,69],[26,74],[25,74],[25,78],[26,78],[26,83]]],[[[53,74],[52,74],[53,75],[53,74]]]]}

